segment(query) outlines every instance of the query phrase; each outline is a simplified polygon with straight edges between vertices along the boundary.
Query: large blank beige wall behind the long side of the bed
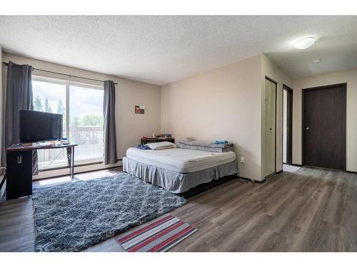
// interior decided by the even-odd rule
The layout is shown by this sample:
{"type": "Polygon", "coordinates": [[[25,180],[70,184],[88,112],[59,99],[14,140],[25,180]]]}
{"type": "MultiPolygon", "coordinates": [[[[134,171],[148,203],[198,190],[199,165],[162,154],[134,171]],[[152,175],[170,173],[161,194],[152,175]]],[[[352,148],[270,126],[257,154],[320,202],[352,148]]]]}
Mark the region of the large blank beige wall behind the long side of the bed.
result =
{"type": "Polygon", "coordinates": [[[229,140],[242,177],[261,179],[261,55],[161,87],[161,132],[229,140]]]}

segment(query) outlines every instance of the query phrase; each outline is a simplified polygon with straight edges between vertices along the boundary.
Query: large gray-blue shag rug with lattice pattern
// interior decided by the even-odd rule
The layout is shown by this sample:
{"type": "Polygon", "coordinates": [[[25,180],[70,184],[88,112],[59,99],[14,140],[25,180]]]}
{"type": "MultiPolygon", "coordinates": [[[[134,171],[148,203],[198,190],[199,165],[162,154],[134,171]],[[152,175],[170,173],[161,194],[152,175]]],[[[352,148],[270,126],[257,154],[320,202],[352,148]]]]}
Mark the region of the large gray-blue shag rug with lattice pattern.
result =
{"type": "Polygon", "coordinates": [[[131,174],[34,189],[36,251],[81,251],[186,204],[131,174]]]}

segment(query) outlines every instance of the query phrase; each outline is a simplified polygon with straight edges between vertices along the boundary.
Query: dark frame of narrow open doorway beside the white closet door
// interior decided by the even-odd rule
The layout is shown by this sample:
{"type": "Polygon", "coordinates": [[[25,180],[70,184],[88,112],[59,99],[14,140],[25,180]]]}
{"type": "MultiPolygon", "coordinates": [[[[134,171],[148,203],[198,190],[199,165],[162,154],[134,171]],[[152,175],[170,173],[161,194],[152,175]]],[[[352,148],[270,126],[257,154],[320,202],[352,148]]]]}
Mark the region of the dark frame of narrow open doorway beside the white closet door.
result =
{"type": "MultiPolygon", "coordinates": [[[[288,100],[288,109],[287,109],[287,129],[286,129],[286,164],[293,164],[293,89],[288,87],[287,85],[283,84],[283,94],[284,90],[288,93],[287,100],[288,100]],[[290,95],[290,98],[289,98],[290,95]]],[[[283,105],[283,120],[282,120],[282,132],[281,135],[283,136],[283,129],[284,129],[284,95],[282,97],[283,105]]],[[[283,137],[281,139],[283,148],[283,137]]],[[[281,159],[283,159],[283,150],[281,151],[281,159]]],[[[283,162],[284,164],[284,162],[283,162]]]]}

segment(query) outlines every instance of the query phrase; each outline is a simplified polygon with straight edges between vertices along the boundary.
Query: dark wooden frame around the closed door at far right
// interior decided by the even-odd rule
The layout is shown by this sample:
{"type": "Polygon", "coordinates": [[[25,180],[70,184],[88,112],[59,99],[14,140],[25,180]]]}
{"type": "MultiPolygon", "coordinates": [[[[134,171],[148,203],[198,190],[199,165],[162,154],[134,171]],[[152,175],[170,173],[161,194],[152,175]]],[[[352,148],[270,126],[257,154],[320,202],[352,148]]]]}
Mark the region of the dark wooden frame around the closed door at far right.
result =
{"type": "Polygon", "coordinates": [[[345,94],[345,98],[346,98],[346,102],[343,103],[343,110],[344,112],[344,116],[343,116],[343,125],[345,125],[343,127],[343,172],[346,172],[346,131],[347,131],[347,125],[346,125],[346,118],[347,118],[347,83],[336,83],[333,85],[322,85],[322,86],[316,86],[316,87],[312,87],[312,88],[303,88],[301,90],[301,164],[303,166],[305,166],[305,159],[303,158],[303,152],[304,152],[304,105],[303,105],[303,96],[304,93],[306,91],[309,90],[323,90],[323,89],[329,89],[329,88],[333,88],[333,87],[337,87],[337,86],[343,86],[344,88],[344,94],[345,94]]]}

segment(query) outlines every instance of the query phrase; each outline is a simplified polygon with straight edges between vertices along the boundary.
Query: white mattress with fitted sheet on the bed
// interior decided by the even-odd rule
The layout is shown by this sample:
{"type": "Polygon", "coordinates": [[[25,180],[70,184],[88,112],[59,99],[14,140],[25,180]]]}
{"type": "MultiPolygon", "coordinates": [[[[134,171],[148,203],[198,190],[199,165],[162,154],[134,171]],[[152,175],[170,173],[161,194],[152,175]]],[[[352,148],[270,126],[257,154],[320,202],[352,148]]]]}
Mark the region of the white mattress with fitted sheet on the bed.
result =
{"type": "Polygon", "coordinates": [[[190,173],[233,162],[236,159],[236,154],[232,151],[208,152],[184,148],[139,150],[136,147],[131,147],[126,150],[126,157],[171,172],[190,173]]]}

